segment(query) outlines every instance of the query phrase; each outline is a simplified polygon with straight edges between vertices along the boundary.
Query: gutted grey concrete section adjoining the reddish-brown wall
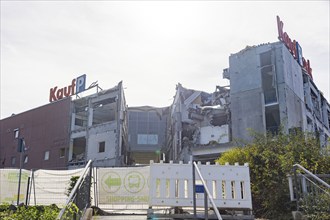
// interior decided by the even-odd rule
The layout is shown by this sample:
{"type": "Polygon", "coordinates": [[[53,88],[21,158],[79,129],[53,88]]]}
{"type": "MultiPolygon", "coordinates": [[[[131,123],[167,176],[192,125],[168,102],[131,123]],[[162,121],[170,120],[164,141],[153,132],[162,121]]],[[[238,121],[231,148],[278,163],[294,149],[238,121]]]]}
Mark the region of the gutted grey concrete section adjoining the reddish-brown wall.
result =
{"type": "Polygon", "coordinates": [[[127,164],[127,105],[122,82],[72,101],[69,167],[127,164]]]}

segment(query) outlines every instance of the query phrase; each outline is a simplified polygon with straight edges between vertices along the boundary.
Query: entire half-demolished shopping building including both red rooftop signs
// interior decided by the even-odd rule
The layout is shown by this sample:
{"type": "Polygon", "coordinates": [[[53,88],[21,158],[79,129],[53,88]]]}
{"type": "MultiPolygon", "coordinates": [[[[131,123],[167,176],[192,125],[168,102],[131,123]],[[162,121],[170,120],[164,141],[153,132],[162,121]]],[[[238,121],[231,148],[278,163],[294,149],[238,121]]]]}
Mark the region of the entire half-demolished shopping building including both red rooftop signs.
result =
{"type": "MultiPolygon", "coordinates": [[[[278,23],[283,28],[279,18],[278,23]]],[[[54,87],[54,102],[0,120],[0,168],[18,167],[21,155],[24,167],[34,169],[73,169],[88,160],[95,166],[212,161],[237,142],[250,141],[251,130],[312,132],[324,147],[329,102],[313,82],[299,44],[282,32],[279,28],[279,42],[230,55],[223,71],[229,86],[207,93],[179,83],[173,104],[165,108],[128,108],[122,82],[72,100],[70,95],[85,91],[86,75],[54,87]],[[23,153],[17,152],[20,138],[28,146],[23,153]]]]}

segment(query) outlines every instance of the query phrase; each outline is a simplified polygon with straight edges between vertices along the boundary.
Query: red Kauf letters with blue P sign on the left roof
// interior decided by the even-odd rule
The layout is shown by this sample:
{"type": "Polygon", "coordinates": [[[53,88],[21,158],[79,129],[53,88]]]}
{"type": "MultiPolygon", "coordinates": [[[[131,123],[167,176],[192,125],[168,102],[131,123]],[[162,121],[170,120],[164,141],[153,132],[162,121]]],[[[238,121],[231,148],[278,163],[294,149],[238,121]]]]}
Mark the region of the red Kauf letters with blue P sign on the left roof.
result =
{"type": "Polygon", "coordinates": [[[71,81],[71,85],[58,89],[57,86],[50,89],[49,102],[58,101],[65,97],[69,97],[80,92],[85,91],[86,87],[86,74],[79,76],[71,81]]]}

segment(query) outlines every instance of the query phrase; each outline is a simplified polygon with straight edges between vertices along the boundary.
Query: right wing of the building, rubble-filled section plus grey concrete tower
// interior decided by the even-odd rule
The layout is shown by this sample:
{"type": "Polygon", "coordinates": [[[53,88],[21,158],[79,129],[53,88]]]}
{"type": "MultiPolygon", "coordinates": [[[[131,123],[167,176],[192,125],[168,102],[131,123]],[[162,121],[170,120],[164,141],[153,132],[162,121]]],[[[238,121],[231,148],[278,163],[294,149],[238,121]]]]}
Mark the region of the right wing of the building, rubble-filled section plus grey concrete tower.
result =
{"type": "Polygon", "coordinates": [[[314,133],[326,146],[330,105],[285,43],[246,47],[229,57],[223,78],[229,87],[214,93],[177,85],[168,120],[168,160],[212,161],[222,152],[251,141],[251,131],[281,129],[314,133]]]}

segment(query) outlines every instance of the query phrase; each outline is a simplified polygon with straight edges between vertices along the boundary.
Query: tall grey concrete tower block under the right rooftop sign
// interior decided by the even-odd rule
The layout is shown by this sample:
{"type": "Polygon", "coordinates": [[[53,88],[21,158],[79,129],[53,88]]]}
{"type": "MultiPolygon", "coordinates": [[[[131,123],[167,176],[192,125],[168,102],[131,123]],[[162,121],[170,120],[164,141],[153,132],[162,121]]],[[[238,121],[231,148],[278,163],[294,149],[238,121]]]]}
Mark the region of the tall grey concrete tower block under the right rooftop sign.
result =
{"type": "Polygon", "coordinates": [[[330,105],[312,77],[282,42],[247,47],[229,57],[232,136],[250,139],[249,129],[277,133],[299,129],[330,136],[330,105]]]}

